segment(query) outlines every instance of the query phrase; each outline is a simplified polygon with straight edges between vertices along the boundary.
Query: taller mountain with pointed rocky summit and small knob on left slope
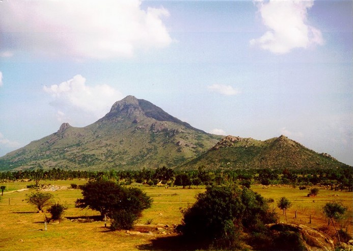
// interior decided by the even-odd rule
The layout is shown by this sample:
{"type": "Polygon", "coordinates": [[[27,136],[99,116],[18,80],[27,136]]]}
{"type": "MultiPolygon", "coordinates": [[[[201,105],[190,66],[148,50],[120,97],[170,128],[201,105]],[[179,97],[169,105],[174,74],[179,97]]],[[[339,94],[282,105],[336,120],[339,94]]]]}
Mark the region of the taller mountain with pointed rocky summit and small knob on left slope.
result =
{"type": "Polygon", "coordinates": [[[0,171],[174,167],[199,156],[220,139],[144,99],[127,96],[87,127],[63,123],[56,133],[5,155],[0,158],[0,171]]]}

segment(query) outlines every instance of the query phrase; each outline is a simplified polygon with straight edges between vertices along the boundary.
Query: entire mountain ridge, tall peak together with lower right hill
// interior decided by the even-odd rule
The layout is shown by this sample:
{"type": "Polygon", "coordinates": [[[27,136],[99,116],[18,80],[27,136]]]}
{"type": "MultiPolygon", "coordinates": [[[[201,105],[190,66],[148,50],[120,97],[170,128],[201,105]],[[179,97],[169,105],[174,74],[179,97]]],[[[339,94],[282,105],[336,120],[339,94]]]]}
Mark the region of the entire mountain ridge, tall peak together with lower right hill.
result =
{"type": "Polygon", "coordinates": [[[134,96],[113,104],[83,128],[59,130],[0,158],[0,171],[125,170],[167,166],[214,168],[335,168],[348,166],[284,135],[264,141],[206,133],[134,96]]]}

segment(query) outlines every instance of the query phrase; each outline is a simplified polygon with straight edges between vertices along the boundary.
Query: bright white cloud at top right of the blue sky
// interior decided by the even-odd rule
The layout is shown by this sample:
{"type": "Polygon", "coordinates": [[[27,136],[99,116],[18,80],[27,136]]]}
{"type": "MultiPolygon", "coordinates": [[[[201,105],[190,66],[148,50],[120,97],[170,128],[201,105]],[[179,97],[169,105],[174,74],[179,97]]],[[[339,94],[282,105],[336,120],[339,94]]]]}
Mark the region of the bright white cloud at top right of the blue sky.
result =
{"type": "Polygon", "coordinates": [[[310,26],[307,20],[307,10],[313,6],[313,0],[256,0],[255,3],[269,31],[258,39],[252,39],[251,45],[285,54],[293,48],[323,44],[321,32],[310,26]]]}

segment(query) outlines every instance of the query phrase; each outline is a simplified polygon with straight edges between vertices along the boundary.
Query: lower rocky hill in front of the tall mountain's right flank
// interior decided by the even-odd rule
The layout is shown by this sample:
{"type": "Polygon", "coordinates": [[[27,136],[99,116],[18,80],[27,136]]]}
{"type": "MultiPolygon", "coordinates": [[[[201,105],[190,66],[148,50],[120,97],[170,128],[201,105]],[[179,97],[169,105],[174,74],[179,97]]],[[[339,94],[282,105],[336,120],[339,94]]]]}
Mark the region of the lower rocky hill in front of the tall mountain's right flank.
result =
{"type": "Polygon", "coordinates": [[[284,135],[264,141],[227,136],[207,152],[178,168],[199,166],[206,169],[349,167],[328,154],[318,154],[284,135]]]}

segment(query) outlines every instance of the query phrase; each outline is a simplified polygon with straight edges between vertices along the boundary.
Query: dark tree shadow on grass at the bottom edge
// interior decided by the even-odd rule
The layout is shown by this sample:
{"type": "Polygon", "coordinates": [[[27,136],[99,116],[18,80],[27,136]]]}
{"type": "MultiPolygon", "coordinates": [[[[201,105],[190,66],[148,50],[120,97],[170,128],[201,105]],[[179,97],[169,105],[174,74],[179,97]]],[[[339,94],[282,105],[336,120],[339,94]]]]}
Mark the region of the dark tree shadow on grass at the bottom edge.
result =
{"type": "Polygon", "coordinates": [[[139,250],[188,251],[200,249],[202,246],[185,240],[182,235],[173,235],[168,237],[158,237],[151,240],[151,243],[138,245],[137,248],[139,250]]]}

